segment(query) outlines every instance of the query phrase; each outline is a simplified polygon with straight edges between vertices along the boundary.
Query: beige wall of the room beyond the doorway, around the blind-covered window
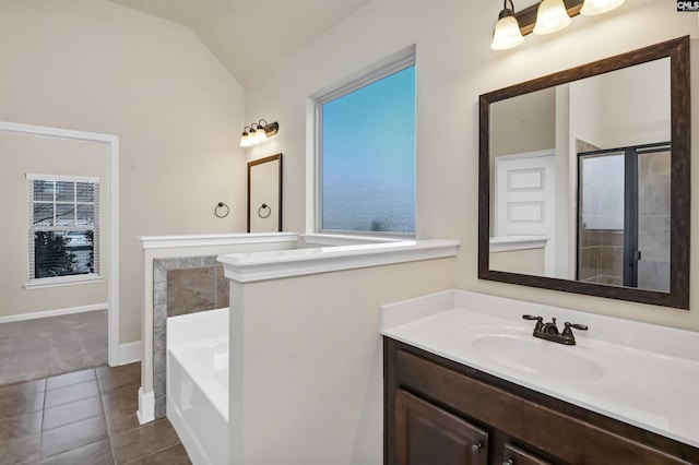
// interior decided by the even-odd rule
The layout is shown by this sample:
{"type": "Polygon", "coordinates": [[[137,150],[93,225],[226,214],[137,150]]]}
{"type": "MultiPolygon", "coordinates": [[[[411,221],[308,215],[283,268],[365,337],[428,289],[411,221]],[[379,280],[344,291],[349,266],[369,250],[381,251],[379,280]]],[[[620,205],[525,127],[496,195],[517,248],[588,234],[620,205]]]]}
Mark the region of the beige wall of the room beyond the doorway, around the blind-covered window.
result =
{"type": "Polygon", "coordinates": [[[0,317],[107,302],[109,278],[109,146],[104,143],[0,131],[0,317]],[[28,281],[26,174],[99,179],[102,282],[25,289],[28,281]]]}

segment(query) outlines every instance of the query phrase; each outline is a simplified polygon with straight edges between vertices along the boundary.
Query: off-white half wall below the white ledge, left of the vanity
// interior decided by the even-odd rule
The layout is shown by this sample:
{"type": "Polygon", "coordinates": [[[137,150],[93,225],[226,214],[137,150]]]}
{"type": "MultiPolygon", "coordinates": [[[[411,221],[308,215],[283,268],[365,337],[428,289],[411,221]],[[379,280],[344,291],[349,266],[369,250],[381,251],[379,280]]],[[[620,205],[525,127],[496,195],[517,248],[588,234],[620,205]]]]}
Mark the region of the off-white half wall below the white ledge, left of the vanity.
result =
{"type": "Polygon", "coordinates": [[[453,278],[447,258],[232,281],[229,464],[380,464],[379,308],[453,278]]]}

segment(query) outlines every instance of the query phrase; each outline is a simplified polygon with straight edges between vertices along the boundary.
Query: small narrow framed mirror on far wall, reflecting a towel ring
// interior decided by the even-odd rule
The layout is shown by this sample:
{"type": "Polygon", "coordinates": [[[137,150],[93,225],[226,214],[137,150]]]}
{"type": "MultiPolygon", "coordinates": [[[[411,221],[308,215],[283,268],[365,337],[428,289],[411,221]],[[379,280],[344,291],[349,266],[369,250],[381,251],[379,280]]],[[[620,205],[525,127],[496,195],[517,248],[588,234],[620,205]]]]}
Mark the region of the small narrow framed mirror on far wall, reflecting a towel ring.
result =
{"type": "Polygon", "coordinates": [[[248,233],[282,230],[282,154],[248,163],[248,233]]]}

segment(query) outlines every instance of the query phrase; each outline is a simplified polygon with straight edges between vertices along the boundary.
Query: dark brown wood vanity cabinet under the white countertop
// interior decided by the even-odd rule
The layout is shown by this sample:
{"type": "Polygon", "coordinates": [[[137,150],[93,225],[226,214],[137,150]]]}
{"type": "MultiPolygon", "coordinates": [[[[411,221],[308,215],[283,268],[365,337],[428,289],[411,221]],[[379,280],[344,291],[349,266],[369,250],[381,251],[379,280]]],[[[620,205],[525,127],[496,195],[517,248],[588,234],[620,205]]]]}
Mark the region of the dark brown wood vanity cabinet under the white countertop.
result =
{"type": "Polygon", "coordinates": [[[383,358],[387,465],[699,464],[697,448],[388,337],[383,358]]]}

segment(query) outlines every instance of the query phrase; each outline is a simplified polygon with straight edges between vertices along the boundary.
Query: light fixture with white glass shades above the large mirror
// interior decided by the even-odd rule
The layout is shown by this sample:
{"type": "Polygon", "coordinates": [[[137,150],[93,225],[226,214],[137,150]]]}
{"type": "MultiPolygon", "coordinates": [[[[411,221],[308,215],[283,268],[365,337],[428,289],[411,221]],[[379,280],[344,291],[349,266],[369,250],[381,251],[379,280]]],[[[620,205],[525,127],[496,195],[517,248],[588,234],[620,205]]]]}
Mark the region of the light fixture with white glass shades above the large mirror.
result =
{"type": "Polygon", "coordinates": [[[523,36],[550,34],[562,29],[571,22],[571,17],[582,14],[594,16],[619,8],[624,0],[542,0],[519,13],[514,13],[512,0],[505,0],[493,33],[490,48],[506,50],[520,45],[523,36]],[[510,2],[511,9],[507,8],[510,2]],[[516,33],[519,28],[519,35],[516,33]]]}

